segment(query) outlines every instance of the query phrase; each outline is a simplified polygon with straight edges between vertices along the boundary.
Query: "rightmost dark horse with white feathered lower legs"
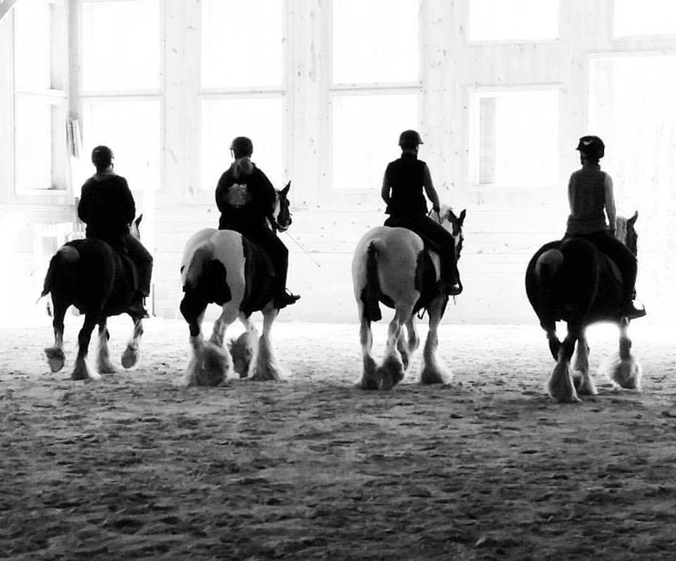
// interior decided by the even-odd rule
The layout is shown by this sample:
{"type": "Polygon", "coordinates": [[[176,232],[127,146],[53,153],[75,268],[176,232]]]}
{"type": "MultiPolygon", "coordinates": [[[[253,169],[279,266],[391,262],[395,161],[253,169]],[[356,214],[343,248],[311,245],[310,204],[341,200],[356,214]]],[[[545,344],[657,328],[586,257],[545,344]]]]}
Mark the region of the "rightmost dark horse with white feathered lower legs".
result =
{"type": "MultiPolygon", "coordinates": [[[[630,219],[616,219],[616,236],[634,256],[638,241],[634,224],[638,216],[638,212],[634,212],[630,219]]],[[[615,323],[620,328],[619,354],[606,361],[603,373],[615,386],[641,389],[641,366],[630,352],[632,342],[627,335],[629,319],[618,311],[622,303],[622,277],[611,259],[584,238],[550,242],[530,259],[525,285],[556,361],[546,385],[553,399],[575,403],[580,401],[578,394],[598,393],[589,374],[589,344],[584,332],[588,325],[599,321],[615,323]],[[568,333],[563,343],[556,336],[556,321],[567,323],[568,333]],[[576,342],[573,372],[570,361],[576,342]]]]}

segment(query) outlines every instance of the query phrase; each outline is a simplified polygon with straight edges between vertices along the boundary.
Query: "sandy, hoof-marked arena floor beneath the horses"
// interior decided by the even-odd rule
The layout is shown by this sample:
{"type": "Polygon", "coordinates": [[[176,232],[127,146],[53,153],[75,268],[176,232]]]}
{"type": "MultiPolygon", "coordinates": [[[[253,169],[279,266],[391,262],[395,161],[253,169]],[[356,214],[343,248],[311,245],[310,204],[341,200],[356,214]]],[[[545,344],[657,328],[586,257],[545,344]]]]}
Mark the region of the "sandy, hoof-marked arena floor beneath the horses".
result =
{"type": "MultiPolygon", "coordinates": [[[[559,405],[536,326],[444,325],[444,387],[353,387],[356,325],[275,325],[284,382],[180,386],[181,321],[134,370],[73,382],[49,319],[0,330],[0,557],[673,559],[676,350],[632,326],[644,392],[559,405]]],[[[111,322],[115,362],[130,335],[111,322]]],[[[421,329],[425,335],[425,330],[421,329]]],[[[384,325],[375,347],[382,354],[384,325]]],[[[617,345],[589,332],[592,366],[617,345]]],[[[94,344],[92,344],[94,347],[94,344]]],[[[93,350],[93,349],[92,349],[93,350]]]]}

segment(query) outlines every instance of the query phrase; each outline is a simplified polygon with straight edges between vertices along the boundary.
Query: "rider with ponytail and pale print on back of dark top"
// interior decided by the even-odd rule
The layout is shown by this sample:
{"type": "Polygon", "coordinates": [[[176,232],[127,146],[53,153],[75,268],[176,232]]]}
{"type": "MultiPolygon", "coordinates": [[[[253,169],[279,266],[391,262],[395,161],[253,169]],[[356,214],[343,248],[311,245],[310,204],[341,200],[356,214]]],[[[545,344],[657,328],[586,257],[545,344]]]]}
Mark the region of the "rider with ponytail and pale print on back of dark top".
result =
{"type": "Polygon", "coordinates": [[[230,152],[234,161],[216,187],[216,206],[221,213],[218,229],[238,231],[268,252],[275,269],[273,302],[275,308],[281,309],[294,304],[300,296],[287,291],[289,250],[267,223],[275,207],[275,188],[251,162],[253,143],[249,138],[234,138],[230,152]]]}

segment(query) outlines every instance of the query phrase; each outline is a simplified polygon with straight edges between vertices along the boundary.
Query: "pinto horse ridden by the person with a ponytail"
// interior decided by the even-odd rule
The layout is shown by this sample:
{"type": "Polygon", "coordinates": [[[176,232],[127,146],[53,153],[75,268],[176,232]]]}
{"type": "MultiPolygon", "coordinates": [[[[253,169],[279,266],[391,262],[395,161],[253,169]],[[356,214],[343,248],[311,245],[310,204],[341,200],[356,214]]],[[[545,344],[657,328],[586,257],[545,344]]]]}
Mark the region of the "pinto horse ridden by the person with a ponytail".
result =
{"type": "MultiPolygon", "coordinates": [[[[286,231],[292,224],[287,195],[291,181],[277,191],[270,227],[286,231]]],[[[184,297],[180,311],[188,323],[192,356],[184,373],[186,385],[219,385],[233,366],[241,378],[280,380],[281,368],[273,353],[270,331],[279,314],[273,304],[275,275],[268,255],[233,230],[204,228],[189,238],[181,259],[184,297]],[[208,341],[201,323],[208,304],[223,308],[208,341]],[[263,313],[263,333],[258,338],[251,321],[254,311],[263,313]],[[223,346],[227,327],[237,318],[244,333],[223,346]],[[233,362],[233,356],[237,355],[233,362]]]]}

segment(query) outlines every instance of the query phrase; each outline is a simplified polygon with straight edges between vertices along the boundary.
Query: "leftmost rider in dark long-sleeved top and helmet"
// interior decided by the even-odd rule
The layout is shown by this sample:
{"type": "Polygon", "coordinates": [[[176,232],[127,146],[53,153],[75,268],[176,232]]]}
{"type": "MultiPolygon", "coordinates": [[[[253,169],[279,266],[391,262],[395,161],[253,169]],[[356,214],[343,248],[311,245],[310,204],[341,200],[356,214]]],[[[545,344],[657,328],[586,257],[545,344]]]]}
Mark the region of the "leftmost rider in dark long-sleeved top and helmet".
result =
{"type": "Polygon", "coordinates": [[[92,150],[92,163],[96,167],[96,173],[82,186],[77,215],[87,224],[87,238],[104,240],[132,259],[139,276],[139,291],[134,297],[132,307],[147,317],[143,299],[150,295],[153,257],[130,234],[136,205],[127,180],[113,171],[113,159],[113,150],[108,146],[96,146],[92,150]]]}

